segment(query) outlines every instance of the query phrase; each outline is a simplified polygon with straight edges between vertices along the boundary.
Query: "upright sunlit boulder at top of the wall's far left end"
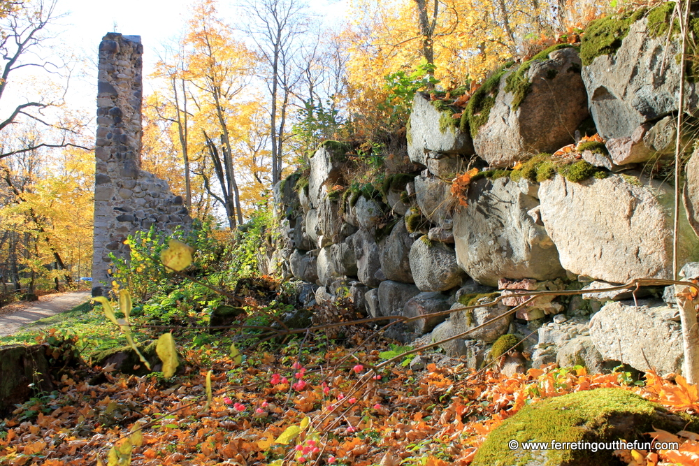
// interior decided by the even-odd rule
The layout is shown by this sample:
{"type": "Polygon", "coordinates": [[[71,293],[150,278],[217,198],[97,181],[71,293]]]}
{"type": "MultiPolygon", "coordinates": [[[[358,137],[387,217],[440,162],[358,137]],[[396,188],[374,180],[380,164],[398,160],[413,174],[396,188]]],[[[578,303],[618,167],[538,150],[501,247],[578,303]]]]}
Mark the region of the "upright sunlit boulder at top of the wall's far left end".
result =
{"type": "Polygon", "coordinates": [[[343,163],[347,146],[334,141],[326,141],[310,158],[308,175],[308,198],[318,207],[328,194],[328,186],[343,182],[343,163]]]}

